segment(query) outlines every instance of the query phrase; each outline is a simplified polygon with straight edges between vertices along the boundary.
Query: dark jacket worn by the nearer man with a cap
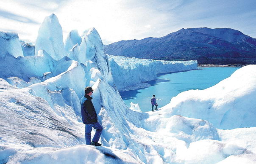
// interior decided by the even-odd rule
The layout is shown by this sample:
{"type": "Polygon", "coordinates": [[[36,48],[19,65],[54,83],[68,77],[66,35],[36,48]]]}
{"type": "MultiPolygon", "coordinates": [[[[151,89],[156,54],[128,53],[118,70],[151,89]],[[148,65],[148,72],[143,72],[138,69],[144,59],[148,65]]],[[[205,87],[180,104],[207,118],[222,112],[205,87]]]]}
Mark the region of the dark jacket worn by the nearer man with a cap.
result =
{"type": "Polygon", "coordinates": [[[83,124],[94,124],[98,121],[97,113],[92,104],[92,97],[87,94],[81,98],[81,115],[83,124]]]}

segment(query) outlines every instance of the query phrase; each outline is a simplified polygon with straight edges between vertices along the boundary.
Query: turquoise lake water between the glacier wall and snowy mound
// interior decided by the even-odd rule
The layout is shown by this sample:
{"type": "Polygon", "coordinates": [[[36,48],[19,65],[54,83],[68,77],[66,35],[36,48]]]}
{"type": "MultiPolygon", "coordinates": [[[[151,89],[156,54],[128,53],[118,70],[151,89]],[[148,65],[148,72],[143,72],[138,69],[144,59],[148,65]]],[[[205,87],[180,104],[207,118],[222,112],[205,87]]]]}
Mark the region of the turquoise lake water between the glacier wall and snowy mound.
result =
{"type": "Polygon", "coordinates": [[[206,89],[228,78],[235,70],[234,67],[200,67],[178,73],[159,74],[154,81],[149,81],[151,86],[133,91],[120,91],[125,104],[139,103],[142,112],[151,111],[150,99],[156,95],[158,108],[167,105],[170,99],[182,91],[190,89],[206,89]]]}

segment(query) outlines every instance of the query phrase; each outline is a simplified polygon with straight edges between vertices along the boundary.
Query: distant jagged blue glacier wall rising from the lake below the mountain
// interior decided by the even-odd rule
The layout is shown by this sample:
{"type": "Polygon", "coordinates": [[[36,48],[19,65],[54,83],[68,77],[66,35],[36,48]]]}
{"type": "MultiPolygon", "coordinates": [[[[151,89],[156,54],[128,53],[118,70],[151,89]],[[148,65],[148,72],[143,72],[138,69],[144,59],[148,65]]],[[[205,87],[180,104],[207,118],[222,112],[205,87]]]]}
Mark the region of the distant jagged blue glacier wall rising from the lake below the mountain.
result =
{"type": "Polygon", "coordinates": [[[109,55],[113,79],[118,90],[155,80],[158,73],[172,73],[197,69],[197,61],[163,61],[109,55]]]}

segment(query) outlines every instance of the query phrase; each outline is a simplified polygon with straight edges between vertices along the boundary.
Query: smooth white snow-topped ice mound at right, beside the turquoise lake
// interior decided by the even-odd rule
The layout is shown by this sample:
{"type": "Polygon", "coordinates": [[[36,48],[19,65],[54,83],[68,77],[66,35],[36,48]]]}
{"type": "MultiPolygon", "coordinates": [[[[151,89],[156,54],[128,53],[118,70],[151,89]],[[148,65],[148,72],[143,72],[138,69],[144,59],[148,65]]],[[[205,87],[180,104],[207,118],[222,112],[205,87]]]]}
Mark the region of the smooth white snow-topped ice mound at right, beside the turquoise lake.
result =
{"type": "Polygon", "coordinates": [[[208,89],[178,94],[162,109],[169,116],[200,118],[220,129],[255,127],[255,97],[256,65],[248,65],[208,89]]]}

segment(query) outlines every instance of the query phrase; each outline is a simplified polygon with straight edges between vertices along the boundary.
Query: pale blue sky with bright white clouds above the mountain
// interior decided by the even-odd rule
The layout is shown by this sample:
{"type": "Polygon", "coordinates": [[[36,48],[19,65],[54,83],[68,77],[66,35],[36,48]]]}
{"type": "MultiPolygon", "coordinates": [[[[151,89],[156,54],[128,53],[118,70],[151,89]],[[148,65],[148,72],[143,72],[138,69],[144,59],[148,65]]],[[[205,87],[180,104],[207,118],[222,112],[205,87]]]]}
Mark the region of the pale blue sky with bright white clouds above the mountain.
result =
{"type": "Polygon", "coordinates": [[[64,40],[95,27],[103,44],[162,37],[181,28],[232,28],[256,38],[256,0],[0,0],[0,31],[35,43],[55,13],[64,40]]]}

